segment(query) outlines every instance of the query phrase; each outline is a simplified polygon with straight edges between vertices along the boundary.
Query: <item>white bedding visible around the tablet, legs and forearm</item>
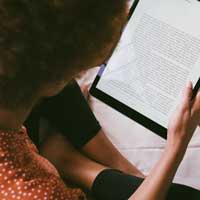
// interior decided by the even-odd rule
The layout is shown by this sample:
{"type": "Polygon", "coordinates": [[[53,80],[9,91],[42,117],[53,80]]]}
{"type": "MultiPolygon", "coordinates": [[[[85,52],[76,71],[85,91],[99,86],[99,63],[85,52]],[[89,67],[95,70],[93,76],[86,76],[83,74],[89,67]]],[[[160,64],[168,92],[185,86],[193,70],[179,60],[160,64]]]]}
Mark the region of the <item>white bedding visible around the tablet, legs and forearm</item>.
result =
{"type": "MultiPolygon", "coordinates": [[[[79,83],[90,86],[97,70],[98,68],[87,71],[79,83]]],[[[89,103],[113,144],[128,160],[148,175],[163,151],[165,140],[94,97],[90,97],[89,103]]],[[[200,130],[198,129],[192,138],[174,182],[200,189],[199,168],[200,130]]]]}

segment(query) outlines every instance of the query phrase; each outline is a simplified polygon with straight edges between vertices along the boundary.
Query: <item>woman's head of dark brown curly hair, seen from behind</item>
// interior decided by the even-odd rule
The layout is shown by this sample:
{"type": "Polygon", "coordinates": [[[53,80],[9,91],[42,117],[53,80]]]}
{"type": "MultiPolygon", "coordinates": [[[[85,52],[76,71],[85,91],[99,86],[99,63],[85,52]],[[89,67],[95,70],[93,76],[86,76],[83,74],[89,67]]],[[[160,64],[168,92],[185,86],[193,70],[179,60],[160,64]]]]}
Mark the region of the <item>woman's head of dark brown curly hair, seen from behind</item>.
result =
{"type": "Polygon", "coordinates": [[[0,0],[0,106],[101,63],[126,20],[126,0],[0,0]]]}

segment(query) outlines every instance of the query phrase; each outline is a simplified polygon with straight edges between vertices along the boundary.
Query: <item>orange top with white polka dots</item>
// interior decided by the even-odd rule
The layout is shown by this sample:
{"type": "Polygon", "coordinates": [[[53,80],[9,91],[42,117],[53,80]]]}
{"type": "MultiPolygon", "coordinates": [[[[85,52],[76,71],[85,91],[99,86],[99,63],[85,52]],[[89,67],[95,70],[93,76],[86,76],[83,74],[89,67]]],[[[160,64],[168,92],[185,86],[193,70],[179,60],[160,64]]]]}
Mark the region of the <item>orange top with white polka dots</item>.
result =
{"type": "Polygon", "coordinates": [[[38,154],[26,129],[0,131],[1,200],[82,200],[80,189],[67,188],[57,170],[38,154]]]}

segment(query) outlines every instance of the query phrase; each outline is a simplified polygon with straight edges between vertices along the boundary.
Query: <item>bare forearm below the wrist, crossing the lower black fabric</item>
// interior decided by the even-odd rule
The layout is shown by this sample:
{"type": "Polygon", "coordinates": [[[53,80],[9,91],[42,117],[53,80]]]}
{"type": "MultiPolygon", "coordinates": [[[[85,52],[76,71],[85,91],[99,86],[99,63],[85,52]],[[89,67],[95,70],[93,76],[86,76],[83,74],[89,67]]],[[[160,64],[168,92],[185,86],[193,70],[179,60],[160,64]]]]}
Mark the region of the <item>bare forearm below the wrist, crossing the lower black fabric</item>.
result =
{"type": "MultiPolygon", "coordinates": [[[[170,148],[170,147],[169,147],[170,148]]],[[[184,150],[167,148],[149,176],[133,194],[130,200],[163,200],[182,161],[184,150]]]]}

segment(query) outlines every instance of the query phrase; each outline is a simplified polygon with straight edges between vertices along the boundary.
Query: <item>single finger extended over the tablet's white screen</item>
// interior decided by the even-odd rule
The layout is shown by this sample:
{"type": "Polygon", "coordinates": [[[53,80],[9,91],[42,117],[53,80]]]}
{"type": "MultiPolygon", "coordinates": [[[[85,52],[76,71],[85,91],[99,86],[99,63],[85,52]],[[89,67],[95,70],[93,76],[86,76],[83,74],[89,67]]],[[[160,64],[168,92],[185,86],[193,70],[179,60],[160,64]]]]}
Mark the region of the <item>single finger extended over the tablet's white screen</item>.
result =
{"type": "Polygon", "coordinates": [[[183,90],[183,100],[182,100],[182,109],[188,110],[191,108],[191,99],[192,99],[192,82],[189,81],[185,89],[183,90]]]}

